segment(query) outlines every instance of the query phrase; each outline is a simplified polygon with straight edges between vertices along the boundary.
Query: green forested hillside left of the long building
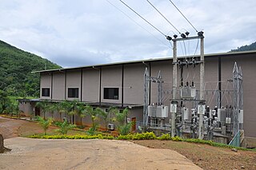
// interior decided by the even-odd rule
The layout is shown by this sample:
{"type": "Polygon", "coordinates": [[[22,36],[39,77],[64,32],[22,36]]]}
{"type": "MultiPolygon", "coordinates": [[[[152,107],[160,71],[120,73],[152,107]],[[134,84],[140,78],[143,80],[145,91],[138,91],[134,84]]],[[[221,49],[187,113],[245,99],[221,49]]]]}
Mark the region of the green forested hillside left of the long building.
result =
{"type": "Polygon", "coordinates": [[[9,96],[38,97],[39,75],[32,71],[61,66],[0,41],[0,90],[9,96]]]}

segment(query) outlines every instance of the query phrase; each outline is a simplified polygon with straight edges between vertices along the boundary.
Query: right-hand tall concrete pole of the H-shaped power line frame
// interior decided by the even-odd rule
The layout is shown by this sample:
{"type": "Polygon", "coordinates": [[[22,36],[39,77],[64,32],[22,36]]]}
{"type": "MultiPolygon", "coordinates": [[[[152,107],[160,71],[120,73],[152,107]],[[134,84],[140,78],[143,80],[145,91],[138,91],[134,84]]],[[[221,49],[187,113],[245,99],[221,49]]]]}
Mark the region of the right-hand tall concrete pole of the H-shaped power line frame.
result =
{"type": "MultiPolygon", "coordinates": [[[[205,65],[204,65],[204,45],[203,45],[203,37],[201,39],[200,45],[200,101],[204,100],[204,77],[205,77],[205,65]]],[[[199,113],[199,127],[198,127],[198,139],[203,139],[203,114],[202,112],[199,113]]]]}

